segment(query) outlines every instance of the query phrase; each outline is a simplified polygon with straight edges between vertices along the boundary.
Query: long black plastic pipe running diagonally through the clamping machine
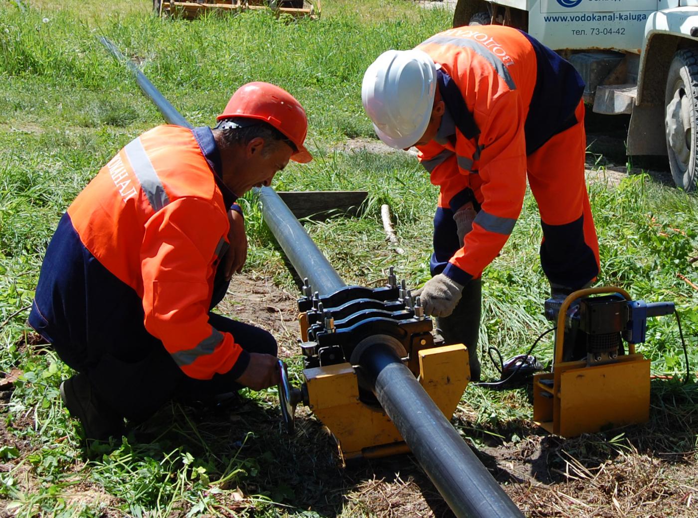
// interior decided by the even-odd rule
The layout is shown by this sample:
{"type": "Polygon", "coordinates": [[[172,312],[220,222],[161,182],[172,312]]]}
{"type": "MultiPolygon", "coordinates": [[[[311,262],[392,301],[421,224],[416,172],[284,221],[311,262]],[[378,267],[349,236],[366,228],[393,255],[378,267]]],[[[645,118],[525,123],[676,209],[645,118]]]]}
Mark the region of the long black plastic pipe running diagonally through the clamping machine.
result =
{"type": "MultiPolygon", "coordinates": [[[[100,40],[129,66],[142,91],[168,123],[192,127],[114,44],[107,38],[100,40]]],[[[313,291],[329,295],[346,286],[279,195],[268,187],[258,193],[265,222],[298,275],[308,277],[313,291]]],[[[366,349],[359,358],[359,369],[456,517],[523,517],[389,346],[376,342],[366,349]]]]}

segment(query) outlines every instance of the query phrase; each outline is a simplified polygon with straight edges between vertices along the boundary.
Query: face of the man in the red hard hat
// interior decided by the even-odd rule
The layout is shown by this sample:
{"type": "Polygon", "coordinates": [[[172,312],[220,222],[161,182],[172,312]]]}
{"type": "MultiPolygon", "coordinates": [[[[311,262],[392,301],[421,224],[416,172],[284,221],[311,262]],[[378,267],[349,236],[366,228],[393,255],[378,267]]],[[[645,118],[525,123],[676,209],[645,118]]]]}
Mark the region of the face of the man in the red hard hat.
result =
{"type": "Polygon", "coordinates": [[[272,185],[274,175],[281,171],[291,158],[293,151],[285,142],[265,142],[257,137],[252,139],[244,149],[244,160],[241,160],[237,171],[231,178],[226,178],[225,184],[242,196],[253,187],[272,185]]]}

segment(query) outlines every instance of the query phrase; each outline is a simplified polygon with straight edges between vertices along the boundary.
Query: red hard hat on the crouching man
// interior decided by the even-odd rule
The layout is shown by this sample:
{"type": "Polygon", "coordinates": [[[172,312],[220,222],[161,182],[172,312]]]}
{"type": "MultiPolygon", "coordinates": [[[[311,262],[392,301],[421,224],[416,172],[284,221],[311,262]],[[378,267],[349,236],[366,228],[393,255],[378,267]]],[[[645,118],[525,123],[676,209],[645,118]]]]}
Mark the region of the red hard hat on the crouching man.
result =
{"type": "Polygon", "coordinates": [[[297,152],[291,160],[302,164],[313,157],[303,145],[308,133],[308,119],[305,110],[295,97],[274,84],[253,82],[239,87],[228,101],[221,119],[247,117],[271,124],[295,144],[297,152]]]}

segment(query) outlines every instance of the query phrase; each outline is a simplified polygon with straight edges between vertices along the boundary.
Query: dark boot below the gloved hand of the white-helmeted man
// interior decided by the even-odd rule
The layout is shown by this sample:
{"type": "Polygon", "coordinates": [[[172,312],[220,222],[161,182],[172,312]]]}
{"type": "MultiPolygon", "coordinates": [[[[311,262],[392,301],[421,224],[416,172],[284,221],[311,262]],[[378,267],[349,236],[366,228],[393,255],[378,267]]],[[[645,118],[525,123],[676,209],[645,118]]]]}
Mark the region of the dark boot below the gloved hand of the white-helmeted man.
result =
{"type": "Polygon", "coordinates": [[[463,288],[463,296],[448,317],[436,317],[436,329],[446,344],[464,344],[468,348],[470,381],[480,381],[477,338],[480,335],[482,280],[473,279],[463,288]]]}

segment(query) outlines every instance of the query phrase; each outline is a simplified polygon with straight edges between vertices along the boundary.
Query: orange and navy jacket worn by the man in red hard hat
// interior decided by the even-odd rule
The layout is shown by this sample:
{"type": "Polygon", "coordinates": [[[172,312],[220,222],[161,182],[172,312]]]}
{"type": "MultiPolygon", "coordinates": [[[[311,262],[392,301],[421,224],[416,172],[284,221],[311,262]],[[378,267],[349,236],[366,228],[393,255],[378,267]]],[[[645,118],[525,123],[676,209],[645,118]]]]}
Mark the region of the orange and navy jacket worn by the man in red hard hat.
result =
{"type": "Polygon", "coordinates": [[[48,340],[133,348],[151,335],[196,379],[229,372],[241,354],[246,366],[235,338],[208,323],[235,195],[216,178],[202,140],[218,158],[209,128],[149,130],[73,201],[47,250],[30,317],[48,340]]]}

